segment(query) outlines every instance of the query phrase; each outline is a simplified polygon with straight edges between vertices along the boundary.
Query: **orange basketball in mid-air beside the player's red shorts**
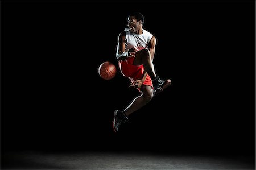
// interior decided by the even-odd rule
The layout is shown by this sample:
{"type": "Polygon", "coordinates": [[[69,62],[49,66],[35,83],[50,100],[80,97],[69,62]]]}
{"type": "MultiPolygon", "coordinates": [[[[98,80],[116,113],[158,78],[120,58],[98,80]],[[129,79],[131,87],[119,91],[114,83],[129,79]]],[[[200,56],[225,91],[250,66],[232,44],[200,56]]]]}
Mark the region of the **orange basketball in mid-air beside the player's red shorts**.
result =
{"type": "Polygon", "coordinates": [[[110,80],[115,77],[117,73],[117,68],[115,65],[109,61],[105,61],[101,63],[100,67],[98,68],[98,74],[104,80],[110,80]]]}

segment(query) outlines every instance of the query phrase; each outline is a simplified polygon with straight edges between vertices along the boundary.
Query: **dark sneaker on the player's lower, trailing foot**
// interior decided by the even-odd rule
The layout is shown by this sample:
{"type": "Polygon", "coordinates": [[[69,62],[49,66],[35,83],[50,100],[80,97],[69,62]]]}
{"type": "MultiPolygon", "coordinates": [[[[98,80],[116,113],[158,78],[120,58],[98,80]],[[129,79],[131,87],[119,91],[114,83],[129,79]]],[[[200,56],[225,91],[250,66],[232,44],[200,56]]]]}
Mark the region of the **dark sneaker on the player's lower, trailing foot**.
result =
{"type": "Polygon", "coordinates": [[[117,132],[122,123],[126,123],[128,120],[128,117],[125,115],[125,113],[123,113],[123,111],[115,110],[114,120],[112,122],[114,132],[117,132]]]}

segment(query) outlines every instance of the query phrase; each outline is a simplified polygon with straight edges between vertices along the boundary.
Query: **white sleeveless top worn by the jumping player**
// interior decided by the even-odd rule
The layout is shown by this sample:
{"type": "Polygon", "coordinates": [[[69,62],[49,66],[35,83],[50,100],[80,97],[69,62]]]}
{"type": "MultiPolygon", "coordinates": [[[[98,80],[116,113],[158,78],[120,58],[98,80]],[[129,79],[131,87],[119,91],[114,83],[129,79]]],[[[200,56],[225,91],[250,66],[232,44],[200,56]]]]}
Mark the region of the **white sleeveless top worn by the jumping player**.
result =
{"type": "Polygon", "coordinates": [[[148,43],[152,38],[152,34],[144,29],[142,34],[135,34],[134,32],[127,31],[125,35],[125,51],[134,48],[137,51],[147,48],[148,43]]]}

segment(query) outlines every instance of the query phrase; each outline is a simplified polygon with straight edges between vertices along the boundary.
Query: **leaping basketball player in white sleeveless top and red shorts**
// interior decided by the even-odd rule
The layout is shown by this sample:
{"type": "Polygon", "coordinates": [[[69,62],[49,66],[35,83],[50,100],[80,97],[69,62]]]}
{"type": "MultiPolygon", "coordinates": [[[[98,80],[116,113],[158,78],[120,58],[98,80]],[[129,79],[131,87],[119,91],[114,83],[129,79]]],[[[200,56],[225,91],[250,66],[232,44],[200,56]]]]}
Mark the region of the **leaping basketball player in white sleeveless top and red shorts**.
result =
{"type": "Polygon", "coordinates": [[[156,38],[144,30],[144,16],[133,13],[127,18],[128,29],[118,35],[116,57],[123,76],[131,81],[130,87],[137,88],[141,94],[135,97],[124,110],[114,111],[113,129],[117,132],[128,116],[151,101],[154,94],[162,92],[171,85],[171,80],[161,80],[155,73],[153,59],[156,38]]]}

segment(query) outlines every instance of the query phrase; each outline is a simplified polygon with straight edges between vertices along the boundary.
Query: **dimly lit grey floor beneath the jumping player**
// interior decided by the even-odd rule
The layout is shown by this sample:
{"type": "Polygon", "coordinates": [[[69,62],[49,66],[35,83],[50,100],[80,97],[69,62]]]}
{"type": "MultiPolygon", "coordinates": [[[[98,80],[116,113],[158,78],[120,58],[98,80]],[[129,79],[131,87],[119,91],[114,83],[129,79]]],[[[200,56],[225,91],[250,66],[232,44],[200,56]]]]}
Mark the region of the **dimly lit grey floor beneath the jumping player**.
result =
{"type": "Polygon", "coordinates": [[[247,157],[108,151],[20,151],[1,157],[1,169],[255,169],[247,157]]]}

